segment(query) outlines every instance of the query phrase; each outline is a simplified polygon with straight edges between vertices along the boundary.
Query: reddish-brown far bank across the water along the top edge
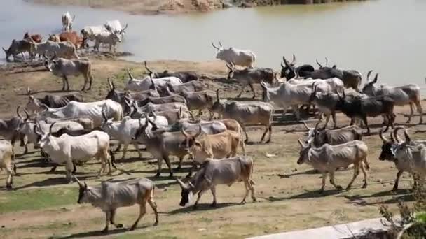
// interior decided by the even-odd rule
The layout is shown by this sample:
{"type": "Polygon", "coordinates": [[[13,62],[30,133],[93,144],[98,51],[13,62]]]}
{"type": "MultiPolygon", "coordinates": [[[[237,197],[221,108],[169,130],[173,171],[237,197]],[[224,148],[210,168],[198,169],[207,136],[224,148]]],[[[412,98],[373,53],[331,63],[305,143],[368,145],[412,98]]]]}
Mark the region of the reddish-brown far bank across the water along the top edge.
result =
{"type": "Polygon", "coordinates": [[[256,6],[312,5],[345,3],[346,1],[366,0],[24,0],[50,6],[82,6],[93,9],[118,10],[131,15],[180,15],[188,13],[207,13],[226,8],[252,8],[256,6]],[[231,3],[233,2],[233,3],[231,3]]]}

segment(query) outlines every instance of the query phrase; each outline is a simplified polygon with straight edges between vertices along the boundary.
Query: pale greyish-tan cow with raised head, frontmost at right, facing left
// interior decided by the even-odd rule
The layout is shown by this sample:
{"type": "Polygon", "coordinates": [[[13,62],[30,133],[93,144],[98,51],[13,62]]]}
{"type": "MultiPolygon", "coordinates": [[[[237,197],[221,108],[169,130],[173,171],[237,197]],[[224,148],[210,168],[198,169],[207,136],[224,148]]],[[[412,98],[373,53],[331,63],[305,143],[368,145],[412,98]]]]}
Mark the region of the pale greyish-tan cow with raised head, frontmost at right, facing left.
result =
{"type": "Polygon", "coordinates": [[[354,164],[354,175],[348,187],[346,187],[346,190],[349,191],[352,187],[352,183],[359,174],[359,168],[361,168],[362,173],[364,173],[364,184],[362,188],[367,187],[367,173],[364,168],[364,162],[366,161],[369,148],[364,142],[354,140],[340,145],[324,144],[322,147],[305,145],[300,139],[298,143],[301,145],[301,150],[297,164],[310,164],[316,170],[322,172],[321,193],[325,188],[327,173],[330,175],[330,183],[336,189],[341,190],[342,187],[334,183],[334,172],[336,168],[348,167],[350,164],[354,164]]]}

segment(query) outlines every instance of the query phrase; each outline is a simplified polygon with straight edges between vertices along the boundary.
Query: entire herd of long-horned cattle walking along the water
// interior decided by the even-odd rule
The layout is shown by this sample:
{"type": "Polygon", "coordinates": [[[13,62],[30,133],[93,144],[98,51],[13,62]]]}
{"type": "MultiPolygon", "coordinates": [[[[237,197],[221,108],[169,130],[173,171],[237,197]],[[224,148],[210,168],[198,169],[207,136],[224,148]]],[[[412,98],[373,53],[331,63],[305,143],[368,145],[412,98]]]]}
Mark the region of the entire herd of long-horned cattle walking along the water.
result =
{"type": "MultiPolygon", "coordinates": [[[[72,31],[74,20],[75,16],[65,13],[62,16],[63,32],[50,35],[48,41],[43,42],[39,34],[28,33],[23,40],[13,40],[8,50],[4,49],[6,59],[19,54],[25,59],[25,52],[31,59],[39,55],[43,57],[48,71],[62,78],[62,90],[70,89],[69,76],[79,75],[84,78],[82,90],[86,89],[86,85],[90,90],[93,81],[91,63],[89,59],[79,58],[77,49],[88,48],[88,41],[95,41],[95,50],[99,50],[101,43],[109,45],[110,50],[115,49],[128,25],[123,28],[118,20],[109,21],[102,26],[84,27],[80,35],[72,31]]],[[[291,62],[283,57],[282,70],[275,73],[271,68],[255,68],[256,55],[249,50],[226,49],[221,43],[219,47],[214,43],[212,46],[217,50],[216,58],[226,62],[228,79],[243,85],[237,98],[249,85],[255,99],[254,85],[260,85],[261,101],[223,100],[219,89],[206,89],[199,81],[198,73],[154,72],[146,62],[144,68],[148,75],[135,78],[128,70],[123,92],[116,89],[113,80],[106,79],[109,92],[102,101],[85,102],[81,94],[36,98],[28,89],[27,105],[18,107],[17,115],[11,119],[0,121],[0,135],[4,138],[0,141],[0,168],[7,171],[6,187],[12,188],[12,178],[16,173],[13,149],[15,140],[19,139],[20,145],[25,147],[24,154],[29,144],[39,148],[43,157],[54,166],[52,171],[56,166],[65,166],[67,182],[74,179],[80,187],[78,203],[92,203],[107,214],[104,231],[108,231],[109,224],[123,227],[123,224],[114,222],[116,209],[134,204],[140,205],[140,212],[130,229],[135,229],[144,215],[146,203],[155,212],[157,224],[157,206],[153,198],[155,185],[151,180],[102,182],[99,186],[90,187],[74,176],[76,164],[92,158],[101,161],[98,176],[111,173],[111,166],[118,169],[114,164],[114,153],[121,149],[121,145],[122,159],[125,159],[128,145],[133,145],[142,157],[139,146],[144,145],[158,161],[156,176],[160,176],[165,161],[170,178],[174,178],[170,164],[172,156],[179,158],[177,171],[184,157],[188,156],[193,162],[185,179],[174,178],[181,187],[181,206],[189,203],[193,194],[198,194],[196,208],[200,197],[208,190],[212,192],[214,206],[217,204],[215,187],[218,184],[231,185],[240,181],[245,185],[241,203],[245,203],[249,194],[256,201],[252,180],[254,161],[245,153],[245,143],[249,141],[246,126],[265,126],[260,141],[263,142],[268,133],[265,143],[270,143],[275,110],[282,109],[284,117],[290,106],[298,122],[301,120],[301,106],[308,110],[314,106],[318,110],[320,119],[315,127],[303,122],[308,129],[308,137],[298,140],[301,150],[297,163],[310,164],[323,174],[322,191],[327,175],[336,189],[342,189],[334,182],[334,172],[350,165],[353,165],[354,174],[346,189],[350,189],[359,169],[364,174],[363,188],[367,187],[369,150],[362,141],[362,128],[355,123],[361,119],[366,133],[370,133],[368,117],[383,117],[386,127],[379,133],[383,140],[380,160],[392,161],[398,169],[394,189],[397,189],[404,171],[413,175],[415,183],[426,174],[426,141],[411,140],[407,129],[394,126],[394,106],[409,105],[410,122],[415,105],[422,123],[418,85],[381,85],[377,83],[378,74],[373,80],[369,79],[370,71],[361,87],[362,75],[358,71],[329,67],[328,59],[325,64],[317,61],[317,69],[308,64],[296,66],[294,55],[291,62]],[[193,114],[194,110],[198,110],[198,115],[193,114]],[[208,121],[200,119],[205,110],[209,113],[208,121]],[[25,117],[22,117],[22,111],[25,117]],[[336,129],[338,111],[351,119],[350,126],[336,129]],[[214,119],[215,114],[219,115],[219,119],[214,119]],[[327,120],[320,128],[324,115],[327,120]],[[334,129],[326,129],[330,116],[334,120],[334,129]],[[393,131],[388,140],[384,133],[390,126],[393,131]],[[399,131],[404,131],[405,140],[400,138],[399,131]],[[115,152],[111,150],[111,140],[119,143],[115,152]],[[193,171],[196,171],[195,175],[193,171]]]]}

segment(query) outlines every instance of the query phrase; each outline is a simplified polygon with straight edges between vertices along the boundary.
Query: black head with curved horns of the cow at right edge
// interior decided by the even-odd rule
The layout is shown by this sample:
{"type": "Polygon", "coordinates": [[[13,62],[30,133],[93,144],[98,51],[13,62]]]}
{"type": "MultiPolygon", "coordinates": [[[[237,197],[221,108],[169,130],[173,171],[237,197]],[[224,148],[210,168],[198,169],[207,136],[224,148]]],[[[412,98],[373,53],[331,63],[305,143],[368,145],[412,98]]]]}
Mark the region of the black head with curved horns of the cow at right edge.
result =
{"type": "Polygon", "coordinates": [[[406,137],[406,141],[403,142],[398,136],[398,131],[404,129],[403,126],[397,126],[394,128],[394,131],[390,133],[390,140],[387,140],[385,136],[383,136],[383,133],[385,131],[385,128],[381,129],[379,132],[380,139],[383,141],[382,145],[382,152],[380,152],[380,156],[378,159],[381,161],[383,160],[390,160],[394,161],[396,159],[396,151],[399,147],[402,145],[405,145],[406,143],[411,142],[410,136],[408,136],[408,133],[406,129],[404,129],[404,135],[406,137]]]}

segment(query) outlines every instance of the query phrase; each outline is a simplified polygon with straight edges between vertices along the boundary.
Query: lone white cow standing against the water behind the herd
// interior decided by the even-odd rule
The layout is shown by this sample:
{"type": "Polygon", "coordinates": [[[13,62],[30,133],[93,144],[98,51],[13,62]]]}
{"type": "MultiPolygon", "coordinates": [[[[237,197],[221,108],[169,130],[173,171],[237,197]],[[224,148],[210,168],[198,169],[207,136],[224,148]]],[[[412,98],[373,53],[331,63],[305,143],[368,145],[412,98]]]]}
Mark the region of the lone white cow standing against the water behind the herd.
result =
{"type": "Polygon", "coordinates": [[[256,55],[251,50],[239,50],[237,48],[225,49],[219,42],[220,48],[212,43],[212,46],[216,48],[216,58],[226,61],[228,64],[234,64],[236,66],[245,66],[247,68],[253,68],[254,61],[256,61],[256,55]]]}

